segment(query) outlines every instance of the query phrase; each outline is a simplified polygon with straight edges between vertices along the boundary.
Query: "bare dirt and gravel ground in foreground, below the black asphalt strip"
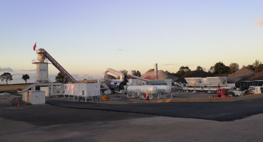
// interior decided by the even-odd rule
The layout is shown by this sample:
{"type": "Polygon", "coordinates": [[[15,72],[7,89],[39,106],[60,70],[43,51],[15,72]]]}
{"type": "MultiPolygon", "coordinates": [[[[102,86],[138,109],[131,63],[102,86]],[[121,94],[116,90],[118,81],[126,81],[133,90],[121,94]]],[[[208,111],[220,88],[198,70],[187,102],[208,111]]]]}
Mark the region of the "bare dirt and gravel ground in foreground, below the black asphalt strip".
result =
{"type": "Polygon", "coordinates": [[[219,122],[53,105],[12,105],[0,99],[0,141],[258,141],[263,114],[219,122]]]}

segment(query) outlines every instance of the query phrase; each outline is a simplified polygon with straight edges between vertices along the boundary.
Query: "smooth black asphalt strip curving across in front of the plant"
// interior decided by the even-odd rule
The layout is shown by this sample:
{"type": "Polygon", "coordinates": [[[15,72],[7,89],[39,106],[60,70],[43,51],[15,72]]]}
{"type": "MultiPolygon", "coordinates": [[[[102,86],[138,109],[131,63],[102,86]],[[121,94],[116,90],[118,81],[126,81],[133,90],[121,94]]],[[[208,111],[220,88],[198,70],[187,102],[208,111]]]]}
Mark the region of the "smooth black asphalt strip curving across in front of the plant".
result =
{"type": "Polygon", "coordinates": [[[175,102],[120,105],[55,100],[46,100],[46,102],[50,105],[67,108],[133,112],[175,118],[197,118],[215,121],[234,121],[263,113],[263,98],[236,102],[175,102]]]}

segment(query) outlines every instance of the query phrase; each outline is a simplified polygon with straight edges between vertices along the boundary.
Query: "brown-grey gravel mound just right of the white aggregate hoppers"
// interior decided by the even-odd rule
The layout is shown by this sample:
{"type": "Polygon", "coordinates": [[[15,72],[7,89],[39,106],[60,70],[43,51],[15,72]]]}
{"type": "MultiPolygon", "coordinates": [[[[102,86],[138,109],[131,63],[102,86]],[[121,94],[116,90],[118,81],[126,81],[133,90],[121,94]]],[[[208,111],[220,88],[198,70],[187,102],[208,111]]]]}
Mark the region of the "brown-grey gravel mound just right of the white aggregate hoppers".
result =
{"type": "Polygon", "coordinates": [[[250,76],[250,75],[252,75],[254,73],[257,73],[257,72],[255,72],[254,70],[249,69],[247,67],[243,67],[242,69],[239,69],[235,73],[232,73],[232,74],[230,74],[230,75],[228,75],[226,77],[227,77],[227,80],[235,83],[235,82],[238,82],[240,79],[242,79],[242,78],[244,78],[246,76],[250,76]]]}

